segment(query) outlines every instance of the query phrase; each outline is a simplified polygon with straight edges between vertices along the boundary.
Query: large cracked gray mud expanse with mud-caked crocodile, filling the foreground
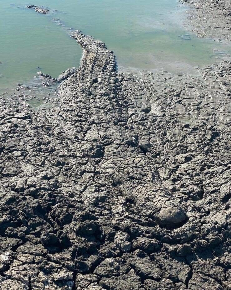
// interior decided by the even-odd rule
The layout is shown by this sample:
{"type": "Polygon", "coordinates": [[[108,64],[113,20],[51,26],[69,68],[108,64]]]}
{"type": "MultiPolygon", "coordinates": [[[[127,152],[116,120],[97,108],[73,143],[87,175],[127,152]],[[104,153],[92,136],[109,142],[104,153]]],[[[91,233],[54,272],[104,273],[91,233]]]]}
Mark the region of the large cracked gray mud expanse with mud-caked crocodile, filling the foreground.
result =
{"type": "Polygon", "coordinates": [[[231,289],[230,62],[123,74],[72,37],[56,104],[1,101],[0,289],[231,289]]]}

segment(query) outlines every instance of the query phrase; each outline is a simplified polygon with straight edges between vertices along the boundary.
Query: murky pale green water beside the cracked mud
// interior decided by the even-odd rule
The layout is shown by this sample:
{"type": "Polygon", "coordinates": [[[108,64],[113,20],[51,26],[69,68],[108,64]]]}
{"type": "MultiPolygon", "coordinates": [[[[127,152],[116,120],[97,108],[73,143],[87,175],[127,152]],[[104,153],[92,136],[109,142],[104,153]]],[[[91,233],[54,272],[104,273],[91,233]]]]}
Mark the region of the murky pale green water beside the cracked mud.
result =
{"type": "Polygon", "coordinates": [[[185,10],[176,0],[2,0],[0,91],[32,79],[38,70],[57,77],[62,70],[78,66],[81,49],[70,39],[68,27],[103,40],[114,50],[120,69],[196,73],[195,66],[212,64],[231,53],[224,44],[186,31],[185,10]],[[24,8],[28,4],[58,12],[38,14],[24,8]],[[190,39],[179,37],[184,34],[190,39]]]}

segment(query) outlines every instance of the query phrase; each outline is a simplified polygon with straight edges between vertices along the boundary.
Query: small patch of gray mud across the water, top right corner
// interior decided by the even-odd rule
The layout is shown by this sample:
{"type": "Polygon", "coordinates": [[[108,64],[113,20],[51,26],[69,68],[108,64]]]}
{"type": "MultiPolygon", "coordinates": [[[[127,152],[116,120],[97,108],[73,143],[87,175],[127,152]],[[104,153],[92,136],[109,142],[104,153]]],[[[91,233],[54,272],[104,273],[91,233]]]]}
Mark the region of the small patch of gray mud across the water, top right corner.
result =
{"type": "Polygon", "coordinates": [[[189,19],[198,36],[231,41],[230,0],[181,1],[193,8],[189,11],[189,19]]]}

